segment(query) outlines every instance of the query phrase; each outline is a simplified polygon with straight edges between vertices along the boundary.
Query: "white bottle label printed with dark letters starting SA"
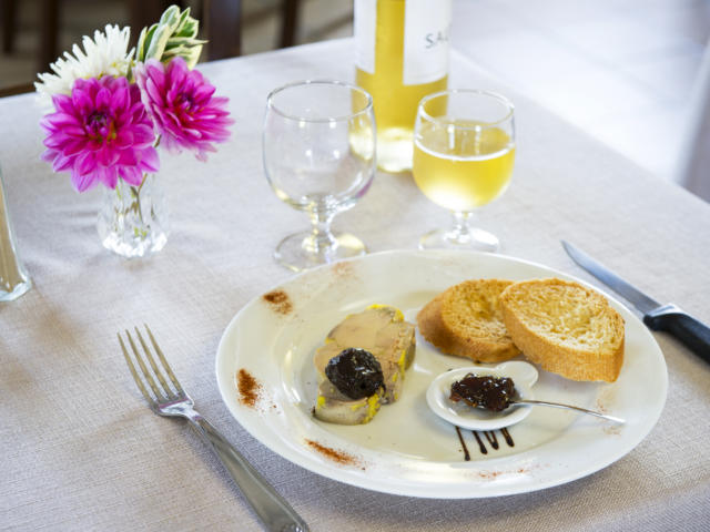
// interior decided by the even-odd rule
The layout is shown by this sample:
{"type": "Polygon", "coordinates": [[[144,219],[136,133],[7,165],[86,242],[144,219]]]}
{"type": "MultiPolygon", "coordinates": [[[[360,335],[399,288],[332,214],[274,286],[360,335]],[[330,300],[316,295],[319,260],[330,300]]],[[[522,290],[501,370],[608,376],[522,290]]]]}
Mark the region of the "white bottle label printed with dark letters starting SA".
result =
{"type": "Polygon", "coordinates": [[[404,16],[405,85],[440,80],[448,72],[452,0],[406,0],[404,16]]]}

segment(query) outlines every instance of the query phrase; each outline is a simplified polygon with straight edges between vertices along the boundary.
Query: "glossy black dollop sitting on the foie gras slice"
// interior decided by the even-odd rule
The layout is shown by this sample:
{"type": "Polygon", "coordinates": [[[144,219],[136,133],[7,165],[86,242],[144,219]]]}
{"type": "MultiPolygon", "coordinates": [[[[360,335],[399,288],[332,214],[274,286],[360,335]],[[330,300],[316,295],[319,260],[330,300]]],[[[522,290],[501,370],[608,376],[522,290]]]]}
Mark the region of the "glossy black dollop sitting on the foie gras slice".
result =
{"type": "Polygon", "coordinates": [[[382,366],[375,356],[356,347],[343,349],[328,360],[325,376],[351,399],[362,399],[384,388],[382,366]]]}

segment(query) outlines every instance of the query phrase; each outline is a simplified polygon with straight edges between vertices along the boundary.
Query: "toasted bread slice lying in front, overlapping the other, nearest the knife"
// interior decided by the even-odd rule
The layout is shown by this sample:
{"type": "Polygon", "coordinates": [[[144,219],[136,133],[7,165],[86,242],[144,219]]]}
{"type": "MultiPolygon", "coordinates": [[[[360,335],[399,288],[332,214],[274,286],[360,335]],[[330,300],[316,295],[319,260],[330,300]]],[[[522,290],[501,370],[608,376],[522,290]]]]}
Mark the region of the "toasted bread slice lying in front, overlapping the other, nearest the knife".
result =
{"type": "Polygon", "coordinates": [[[572,380],[613,382],[623,364],[623,318],[578,283],[515,283],[500,297],[513,341],[530,361],[572,380]]]}

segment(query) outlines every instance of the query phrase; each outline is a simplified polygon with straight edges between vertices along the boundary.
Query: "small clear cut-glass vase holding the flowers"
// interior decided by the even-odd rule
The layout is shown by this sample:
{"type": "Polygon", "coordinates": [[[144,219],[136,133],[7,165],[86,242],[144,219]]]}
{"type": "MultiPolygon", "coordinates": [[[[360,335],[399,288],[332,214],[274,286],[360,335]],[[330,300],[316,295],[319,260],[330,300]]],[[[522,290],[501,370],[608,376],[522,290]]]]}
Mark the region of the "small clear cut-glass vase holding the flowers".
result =
{"type": "Polygon", "coordinates": [[[169,213],[158,174],[145,174],[140,186],[119,180],[105,188],[97,229],[106,249],[125,258],[146,257],[168,242],[169,213]]]}

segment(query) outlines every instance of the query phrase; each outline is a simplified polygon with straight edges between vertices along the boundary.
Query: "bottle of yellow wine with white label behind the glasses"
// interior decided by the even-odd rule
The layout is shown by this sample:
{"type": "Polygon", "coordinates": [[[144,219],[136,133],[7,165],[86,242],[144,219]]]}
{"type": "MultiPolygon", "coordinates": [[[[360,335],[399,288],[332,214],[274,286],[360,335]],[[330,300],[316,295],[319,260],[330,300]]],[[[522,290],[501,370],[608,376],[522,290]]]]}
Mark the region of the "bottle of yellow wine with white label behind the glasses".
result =
{"type": "Polygon", "coordinates": [[[422,98],[446,89],[452,0],[355,0],[356,83],[369,92],[377,165],[412,168],[422,98]]]}

